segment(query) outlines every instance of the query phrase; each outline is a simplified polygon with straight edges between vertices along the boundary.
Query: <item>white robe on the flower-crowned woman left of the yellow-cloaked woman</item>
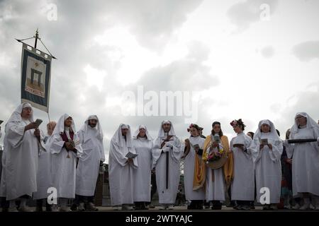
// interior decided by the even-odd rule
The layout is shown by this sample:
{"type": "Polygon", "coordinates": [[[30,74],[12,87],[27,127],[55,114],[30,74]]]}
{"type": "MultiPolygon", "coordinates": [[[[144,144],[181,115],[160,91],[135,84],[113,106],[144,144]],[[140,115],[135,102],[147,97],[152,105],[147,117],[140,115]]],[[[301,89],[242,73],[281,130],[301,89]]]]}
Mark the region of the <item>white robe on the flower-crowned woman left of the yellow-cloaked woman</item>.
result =
{"type": "MultiPolygon", "coordinates": [[[[200,149],[203,149],[204,138],[200,136],[189,138],[189,141],[192,145],[198,144],[200,149]]],[[[194,167],[195,167],[195,155],[196,152],[191,146],[189,154],[186,155],[184,160],[184,188],[186,200],[204,200],[205,199],[205,189],[201,188],[196,191],[193,191],[193,182],[194,182],[194,167]]],[[[201,155],[198,155],[198,158],[201,160],[201,155]]]]}

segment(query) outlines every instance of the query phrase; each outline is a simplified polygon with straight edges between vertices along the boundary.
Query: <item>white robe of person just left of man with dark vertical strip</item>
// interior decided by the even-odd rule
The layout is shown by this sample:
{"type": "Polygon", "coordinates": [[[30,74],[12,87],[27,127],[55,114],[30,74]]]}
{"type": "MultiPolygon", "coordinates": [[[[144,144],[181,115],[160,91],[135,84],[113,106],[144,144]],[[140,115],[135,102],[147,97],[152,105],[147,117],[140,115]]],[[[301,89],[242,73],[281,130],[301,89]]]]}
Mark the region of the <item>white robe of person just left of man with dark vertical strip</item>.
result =
{"type": "Polygon", "coordinates": [[[134,172],[134,201],[150,202],[152,141],[147,138],[133,139],[133,146],[138,154],[138,168],[134,172]]]}

